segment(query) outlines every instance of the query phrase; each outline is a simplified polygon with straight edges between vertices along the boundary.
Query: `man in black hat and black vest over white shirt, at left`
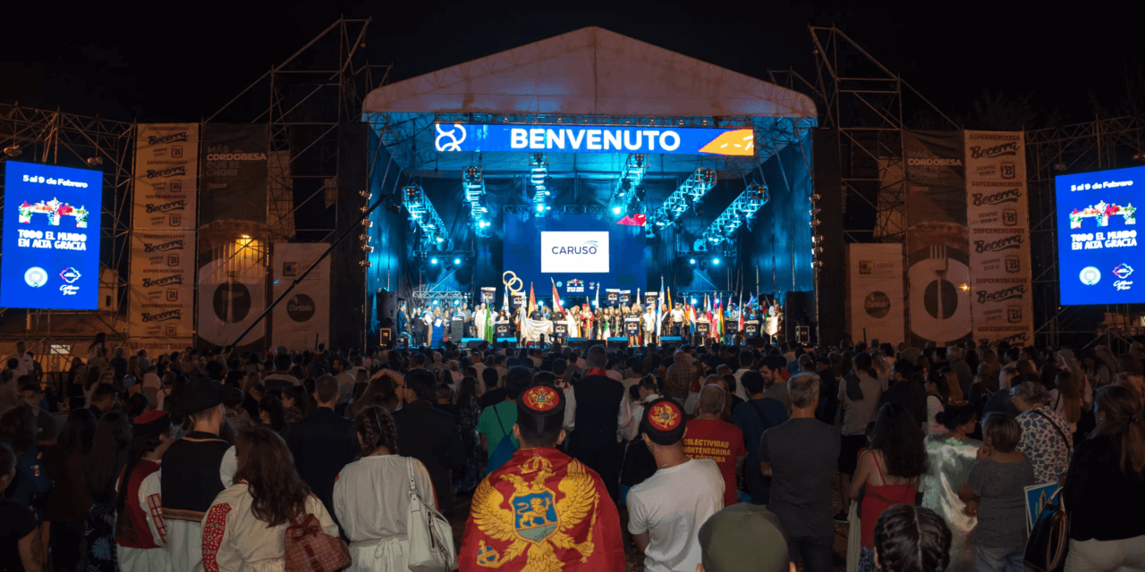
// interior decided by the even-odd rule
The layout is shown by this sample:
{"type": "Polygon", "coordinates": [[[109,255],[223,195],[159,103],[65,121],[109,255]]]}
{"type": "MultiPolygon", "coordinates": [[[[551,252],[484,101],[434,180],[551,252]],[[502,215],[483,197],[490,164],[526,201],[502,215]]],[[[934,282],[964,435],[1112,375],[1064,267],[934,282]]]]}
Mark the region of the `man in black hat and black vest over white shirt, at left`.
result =
{"type": "Polygon", "coordinates": [[[219,438],[226,395],[211,380],[188,382],[180,405],[195,426],[163,458],[163,516],[174,570],[203,570],[203,515],[235,475],[235,447],[219,438]]]}

